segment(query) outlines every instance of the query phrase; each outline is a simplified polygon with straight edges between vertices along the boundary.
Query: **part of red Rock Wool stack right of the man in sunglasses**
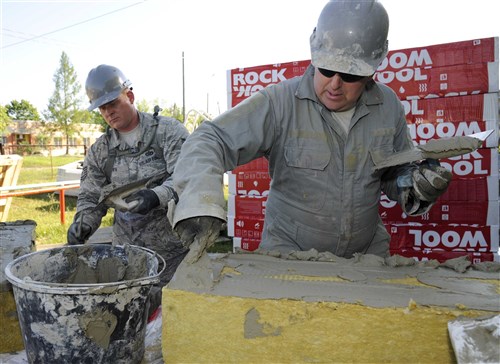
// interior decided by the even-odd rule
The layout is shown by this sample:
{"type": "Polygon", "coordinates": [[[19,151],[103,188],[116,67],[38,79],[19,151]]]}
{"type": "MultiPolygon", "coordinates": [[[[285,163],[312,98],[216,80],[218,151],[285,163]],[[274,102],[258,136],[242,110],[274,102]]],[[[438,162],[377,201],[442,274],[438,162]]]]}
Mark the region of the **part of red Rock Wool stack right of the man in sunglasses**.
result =
{"type": "Polygon", "coordinates": [[[482,148],[441,159],[446,193],[409,217],[381,198],[391,254],[444,261],[498,260],[498,37],[392,51],[375,74],[401,99],[415,144],[492,130],[482,148]]]}

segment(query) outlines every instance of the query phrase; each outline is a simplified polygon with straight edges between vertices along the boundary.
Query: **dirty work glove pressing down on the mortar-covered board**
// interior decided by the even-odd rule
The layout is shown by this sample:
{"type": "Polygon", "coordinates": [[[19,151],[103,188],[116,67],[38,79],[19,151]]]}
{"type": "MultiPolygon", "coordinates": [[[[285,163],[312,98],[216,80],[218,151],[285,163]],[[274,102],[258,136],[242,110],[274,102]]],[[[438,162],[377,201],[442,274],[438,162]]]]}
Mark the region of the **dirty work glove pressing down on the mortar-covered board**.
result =
{"type": "Polygon", "coordinates": [[[212,216],[198,216],[180,221],[175,227],[182,244],[189,248],[197,239],[201,249],[211,247],[219,237],[225,222],[212,216]]]}

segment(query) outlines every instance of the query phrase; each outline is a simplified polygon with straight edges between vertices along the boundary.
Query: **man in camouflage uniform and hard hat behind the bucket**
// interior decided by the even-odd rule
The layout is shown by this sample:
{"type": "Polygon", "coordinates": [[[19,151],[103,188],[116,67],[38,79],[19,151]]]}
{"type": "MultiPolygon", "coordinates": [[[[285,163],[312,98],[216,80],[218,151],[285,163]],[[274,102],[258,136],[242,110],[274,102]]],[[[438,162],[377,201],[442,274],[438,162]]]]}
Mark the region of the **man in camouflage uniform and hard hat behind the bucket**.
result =
{"type": "Polygon", "coordinates": [[[160,285],[152,288],[152,312],[161,304],[161,287],[172,278],[187,253],[167,219],[176,200],[172,188],[180,149],[188,134],[176,119],[139,112],[131,82],[116,67],[99,65],[87,77],[88,110],[99,108],[109,125],[90,147],[83,163],[77,213],[68,229],[68,244],[83,244],[99,227],[107,208],[98,204],[101,191],[149,177],[158,180],[126,198],[129,209],[115,209],[113,244],[154,250],[166,261],[160,285]]]}

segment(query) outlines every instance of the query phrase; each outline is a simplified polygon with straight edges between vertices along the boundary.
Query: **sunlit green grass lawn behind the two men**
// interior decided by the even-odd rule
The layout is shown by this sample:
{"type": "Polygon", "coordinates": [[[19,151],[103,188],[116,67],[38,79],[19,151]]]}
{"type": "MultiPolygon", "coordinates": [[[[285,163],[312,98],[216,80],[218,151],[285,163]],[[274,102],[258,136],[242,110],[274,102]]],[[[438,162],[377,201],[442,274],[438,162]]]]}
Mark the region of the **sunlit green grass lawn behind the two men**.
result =
{"type": "MultiPolygon", "coordinates": [[[[82,156],[25,156],[17,185],[56,182],[57,168],[83,159],[82,156]]],[[[66,232],[76,213],[76,197],[66,196],[65,224],[61,224],[59,195],[43,193],[12,198],[7,221],[34,220],[36,222],[36,244],[65,244],[66,232]]],[[[103,218],[101,227],[111,226],[113,209],[103,218]]],[[[232,240],[221,239],[209,252],[232,250],[232,240]]]]}

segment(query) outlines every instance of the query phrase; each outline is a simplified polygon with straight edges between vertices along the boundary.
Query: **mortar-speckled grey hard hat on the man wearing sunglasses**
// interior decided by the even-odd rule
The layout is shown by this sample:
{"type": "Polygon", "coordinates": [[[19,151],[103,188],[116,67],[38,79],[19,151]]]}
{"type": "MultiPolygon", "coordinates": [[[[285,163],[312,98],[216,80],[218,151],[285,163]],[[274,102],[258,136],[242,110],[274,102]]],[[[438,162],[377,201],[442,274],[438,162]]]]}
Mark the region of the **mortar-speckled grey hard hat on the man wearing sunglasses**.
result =
{"type": "Polygon", "coordinates": [[[311,38],[311,63],[318,68],[371,76],[388,52],[389,16],[376,0],[331,0],[311,38]]]}

